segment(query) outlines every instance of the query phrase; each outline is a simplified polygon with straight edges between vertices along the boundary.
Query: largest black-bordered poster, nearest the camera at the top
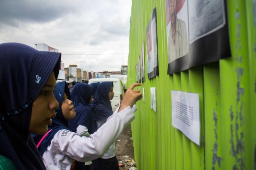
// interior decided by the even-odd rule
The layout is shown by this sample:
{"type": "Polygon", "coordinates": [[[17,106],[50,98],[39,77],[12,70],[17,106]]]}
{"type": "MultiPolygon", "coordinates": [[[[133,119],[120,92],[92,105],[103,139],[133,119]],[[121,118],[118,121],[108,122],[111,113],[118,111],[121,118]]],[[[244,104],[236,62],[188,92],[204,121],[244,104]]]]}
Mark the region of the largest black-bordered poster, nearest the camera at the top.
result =
{"type": "Polygon", "coordinates": [[[226,0],[165,0],[167,74],[231,56],[226,0]]]}

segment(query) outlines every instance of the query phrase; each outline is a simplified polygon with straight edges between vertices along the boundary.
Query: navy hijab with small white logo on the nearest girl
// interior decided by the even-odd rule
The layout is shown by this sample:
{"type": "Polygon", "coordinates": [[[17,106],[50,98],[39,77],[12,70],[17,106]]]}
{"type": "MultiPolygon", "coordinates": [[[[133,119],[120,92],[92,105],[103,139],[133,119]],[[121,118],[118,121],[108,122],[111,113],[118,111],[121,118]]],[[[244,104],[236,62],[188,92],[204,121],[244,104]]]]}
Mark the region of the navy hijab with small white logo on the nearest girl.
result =
{"type": "Polygon", "coordinates": [[[45,170],[29,124],[33,102],[53,71],[57,79],[61,53],[2,43],[0,59],[0,155],[18,170],[45,170]]]}

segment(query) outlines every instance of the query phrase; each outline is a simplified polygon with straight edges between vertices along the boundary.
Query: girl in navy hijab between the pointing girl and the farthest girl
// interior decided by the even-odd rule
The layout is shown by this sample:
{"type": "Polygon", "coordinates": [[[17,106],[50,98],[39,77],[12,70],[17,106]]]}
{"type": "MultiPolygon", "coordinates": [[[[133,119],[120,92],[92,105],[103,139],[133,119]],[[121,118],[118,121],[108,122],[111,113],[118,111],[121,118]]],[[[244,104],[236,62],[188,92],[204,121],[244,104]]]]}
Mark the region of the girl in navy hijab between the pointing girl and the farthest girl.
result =
{"type": "MultiPolygon", "coordinates": [[[[70,130],[78,135],[90,137],[90,134],[96,131],[95,123],[92,119],[89,104],[92,102],[93,86],[85,83],[77,83],[71,91],[72,101],[76,111],[76,117],[69,121],[70,130]]],[[[76,162],[75,170],[89,170],[89,162],[76,162]],[[84,164],[86,163],[85,167],[84,164]]]]}

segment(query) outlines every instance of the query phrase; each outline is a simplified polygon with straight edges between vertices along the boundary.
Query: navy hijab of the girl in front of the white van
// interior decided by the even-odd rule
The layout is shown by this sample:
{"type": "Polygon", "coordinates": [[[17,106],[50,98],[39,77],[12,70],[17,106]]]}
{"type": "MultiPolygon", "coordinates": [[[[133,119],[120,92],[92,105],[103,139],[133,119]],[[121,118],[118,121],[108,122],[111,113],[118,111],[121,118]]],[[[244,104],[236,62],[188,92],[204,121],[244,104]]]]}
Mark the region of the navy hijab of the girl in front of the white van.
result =
{"type": "Polygon", "coordinates": [[[114,87],[113,82],[102,82],[93,96],[91,111],[94,121],[108,119],[113,114],[109,98],[111,86],[114,87]]]}

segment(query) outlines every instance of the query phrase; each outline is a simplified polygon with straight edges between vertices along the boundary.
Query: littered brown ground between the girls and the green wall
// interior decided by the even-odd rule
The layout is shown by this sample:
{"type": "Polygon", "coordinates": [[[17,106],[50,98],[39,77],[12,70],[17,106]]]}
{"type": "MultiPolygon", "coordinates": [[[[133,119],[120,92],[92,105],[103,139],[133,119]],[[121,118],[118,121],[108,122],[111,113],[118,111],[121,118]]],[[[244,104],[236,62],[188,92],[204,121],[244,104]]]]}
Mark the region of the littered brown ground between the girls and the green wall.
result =
{"type": "MultiPolygon", "coordinates": [[[[133,141],[132,141],[132,132],[131,132],[131,125],[128,125],[121,135],[119,136],[117,143],[116,143],[116,150],[117,150],[117,159],[118,161],[122,161],[120,164],[124,164],[124,166],[120,167],[119,170],[127,170],[131,167],[131,163],[128,164],[127,160],[134,160],[134,148],[133,148],[133,141]],[[126,156],[126,157],[124,157],[126,156]],[[129,156],[129,157],[127,157],[129,156]]],[[[132,162],[134,163],[134,162],[132,162]]],[[[136,167],[136,166],[134,166],[136,167]]]]}

